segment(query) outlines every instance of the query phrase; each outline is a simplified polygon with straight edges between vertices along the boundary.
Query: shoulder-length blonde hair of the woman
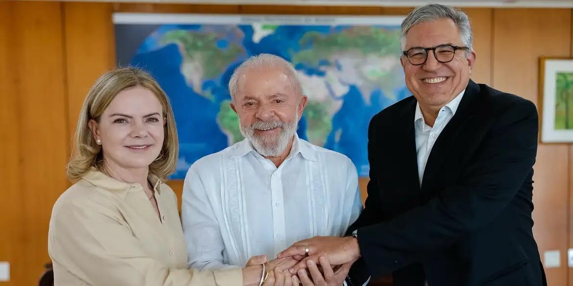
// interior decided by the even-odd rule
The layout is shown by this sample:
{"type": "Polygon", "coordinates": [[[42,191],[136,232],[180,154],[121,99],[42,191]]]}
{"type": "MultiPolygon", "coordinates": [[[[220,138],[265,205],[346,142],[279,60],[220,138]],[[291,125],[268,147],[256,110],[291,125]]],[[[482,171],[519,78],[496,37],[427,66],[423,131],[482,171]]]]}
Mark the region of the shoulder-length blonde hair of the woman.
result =
{"type": "Polygon", "coordinates": [[[92,119],[99,122],[101,114],[108,108],[113,98],[122,90],[135,86],[141,86],[155,94],[163,106],[163,118],[166,120],[163,147],[159,156],[150,164],[149,171],[160,180],[166,180],[169,174],[175,172],[179,142],[173,109],[167,95],[150,74],[135,67],[122,67],[97,78],[85,98],[77,121],[72,157],[68,162],[67,175],[70,181],[79,180],[92,167],[102,170],[101,146],[96,144],[88,123],[92,119]]]}

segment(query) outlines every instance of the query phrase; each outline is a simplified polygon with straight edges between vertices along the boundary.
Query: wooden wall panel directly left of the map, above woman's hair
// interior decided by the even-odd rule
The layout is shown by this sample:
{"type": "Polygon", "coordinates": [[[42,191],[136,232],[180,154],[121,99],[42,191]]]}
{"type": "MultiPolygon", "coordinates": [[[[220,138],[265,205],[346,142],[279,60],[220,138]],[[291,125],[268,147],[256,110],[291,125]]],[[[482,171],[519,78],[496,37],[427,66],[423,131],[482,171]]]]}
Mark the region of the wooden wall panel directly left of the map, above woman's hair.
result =
{"type": "Polygon", "coordinates": [[[115,67],[111,3],[66,2],[65,63],[68,80],[69,138],[73,138],[81,105],[93,82],[115,67]]]}

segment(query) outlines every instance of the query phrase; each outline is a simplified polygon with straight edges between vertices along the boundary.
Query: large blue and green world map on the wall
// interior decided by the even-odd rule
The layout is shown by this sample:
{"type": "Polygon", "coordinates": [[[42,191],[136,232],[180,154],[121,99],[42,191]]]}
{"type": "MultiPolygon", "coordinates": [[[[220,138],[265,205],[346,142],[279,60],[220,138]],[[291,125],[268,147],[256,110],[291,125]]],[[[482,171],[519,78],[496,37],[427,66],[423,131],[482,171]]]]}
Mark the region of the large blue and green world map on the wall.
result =
{"type": "Polygon", "coordinates": [[[243,140],[227,84],[245,58],[259,53],[296,67],[308,96],[299,137],[346,154],[359,176],[368,176],[368,123],[410,96],[399,60],[400,19],[163,16],[149,23],[140,20],[150,17],[116,14],[114,21],[118,63],[148,70],[170,97],[180,144],[171,178],[184,178],[199,158],[243,140]]]}

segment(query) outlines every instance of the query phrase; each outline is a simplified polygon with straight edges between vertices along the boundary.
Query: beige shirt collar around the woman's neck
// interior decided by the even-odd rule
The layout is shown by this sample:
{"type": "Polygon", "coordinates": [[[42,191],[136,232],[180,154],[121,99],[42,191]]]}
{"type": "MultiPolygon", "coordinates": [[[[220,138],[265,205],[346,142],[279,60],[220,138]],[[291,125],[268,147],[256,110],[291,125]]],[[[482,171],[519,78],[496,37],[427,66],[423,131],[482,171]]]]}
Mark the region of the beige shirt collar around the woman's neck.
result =
{"type": "MultiPolygon", "coordinates": [[[[102,173],[95,167],[92,167],[86,174],[84,174],[82,178],[90,182],[92,185],[98,186],[99,188],[117,194],[121,198],[124,198],[125,194],[127,194],[127,192],[130,189],[135,189],[135,188],[142,189],[141,184],[138,183],[129,184],[128,182],[117,181],[114,178],[109,177],[106,174],[102,173]]],[[[161,194],[162,181],[159,180],[159,178],[154,174],[149,174],[147,176],[147,180],[151,182],[154,190],[156,190],[159,194],[161,194]]]]}

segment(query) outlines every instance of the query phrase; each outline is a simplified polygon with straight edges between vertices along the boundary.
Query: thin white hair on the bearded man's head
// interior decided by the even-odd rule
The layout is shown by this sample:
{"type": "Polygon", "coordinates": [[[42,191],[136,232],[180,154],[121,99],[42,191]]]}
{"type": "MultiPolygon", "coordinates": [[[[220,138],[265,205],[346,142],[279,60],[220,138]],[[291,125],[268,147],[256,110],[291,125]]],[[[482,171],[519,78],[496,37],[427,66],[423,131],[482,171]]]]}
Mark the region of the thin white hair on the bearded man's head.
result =
{"type": "Polygon", "coordinates": [[[296,76],[295,66],[293,66],[292,63],[286,61],[284,58],[278,57],[278,55],[258,54],[252,55],[234,70],[233,76],[231,76],[229,80],[229,93],[231,94],[232,101],[235,100],[235,96],[238,92],[239,77],[247,70],[261,69],[262,67],[283,68],[286,76],[291,81],[292,88],[299,96],[303,94],[303,87],[300,85],[299,78],[296,76]]]}

